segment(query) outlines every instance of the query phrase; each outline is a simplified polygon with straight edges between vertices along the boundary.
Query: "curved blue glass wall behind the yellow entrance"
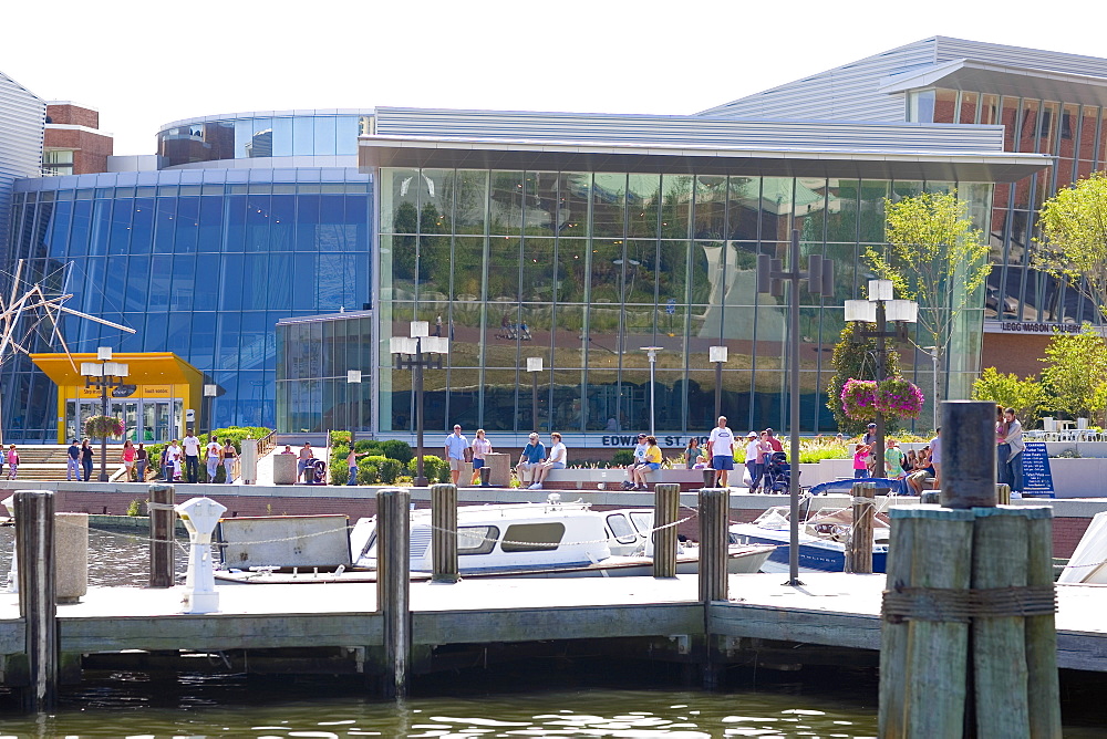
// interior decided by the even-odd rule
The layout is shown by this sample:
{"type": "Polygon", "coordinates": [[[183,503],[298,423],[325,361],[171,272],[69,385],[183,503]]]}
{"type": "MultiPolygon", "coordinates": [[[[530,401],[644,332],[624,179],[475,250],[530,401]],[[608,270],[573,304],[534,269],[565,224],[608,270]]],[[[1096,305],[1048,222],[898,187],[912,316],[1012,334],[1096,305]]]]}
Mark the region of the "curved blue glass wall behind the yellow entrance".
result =
{"type": "MultiPolygon", "coordinates": [[[[213,426],[272,427],[277,321],[370,302],[371,201],[342,168],[20,180],[0,267],[25,259],[71,308],[137,330],[68,318],[72,351],[175,352],[221,388],[213,426]]],[[[53,443],[52,383],[25,360],[2,373],[6,438],[53,443]]]]}

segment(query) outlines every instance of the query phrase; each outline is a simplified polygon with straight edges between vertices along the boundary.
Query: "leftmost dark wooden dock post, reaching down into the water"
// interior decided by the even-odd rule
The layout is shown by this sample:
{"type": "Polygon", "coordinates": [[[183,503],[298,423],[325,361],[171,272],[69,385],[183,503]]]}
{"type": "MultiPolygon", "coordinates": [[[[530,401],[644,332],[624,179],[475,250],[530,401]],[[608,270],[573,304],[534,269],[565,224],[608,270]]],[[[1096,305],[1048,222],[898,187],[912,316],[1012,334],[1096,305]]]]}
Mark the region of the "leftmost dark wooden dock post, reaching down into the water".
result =
{"type": "Polygon", "coordinates": [[[50,710],[58,697],[58,606],[54,570],[54,493],[15,492],[15,548],[19,551],[19,615],[25,623],[30,687],[24,708],[50,710]]]}

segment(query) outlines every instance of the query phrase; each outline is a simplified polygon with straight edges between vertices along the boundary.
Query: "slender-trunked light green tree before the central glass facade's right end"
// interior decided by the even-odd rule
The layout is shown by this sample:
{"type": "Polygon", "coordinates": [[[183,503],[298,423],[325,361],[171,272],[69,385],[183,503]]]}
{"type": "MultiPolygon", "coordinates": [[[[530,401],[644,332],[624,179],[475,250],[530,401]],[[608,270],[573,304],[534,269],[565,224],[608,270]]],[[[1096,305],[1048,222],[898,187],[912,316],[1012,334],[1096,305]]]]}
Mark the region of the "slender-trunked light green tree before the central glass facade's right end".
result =
{"type": "Polygon", "coordinates": [[[900,298],[919,303],[919,331],[942,367],[953,327],[983,301],[981,288],[992,269],[983,231],[973,228],[956,190],[886,198],[884,210],[887,244],[870,248],[866,259],[900,298]]]}

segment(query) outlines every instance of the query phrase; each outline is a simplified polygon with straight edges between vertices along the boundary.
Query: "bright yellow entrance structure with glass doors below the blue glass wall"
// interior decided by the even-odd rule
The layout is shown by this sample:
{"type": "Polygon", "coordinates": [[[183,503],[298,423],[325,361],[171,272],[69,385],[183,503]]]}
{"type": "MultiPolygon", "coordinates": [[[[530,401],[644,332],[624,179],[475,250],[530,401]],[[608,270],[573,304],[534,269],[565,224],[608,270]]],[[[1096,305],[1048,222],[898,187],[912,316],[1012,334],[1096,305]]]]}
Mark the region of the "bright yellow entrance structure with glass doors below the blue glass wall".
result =
{"type": "MultiPolygon", "coordinates": [[[[58,385],[58,443],[82,438],[84,421],[101,414],[101,392],[85,387],[81,374],[81,363],[99,362],[96,354],[32,354],[31,361],[58,385]]],[[[125,429],[116,441],[166,443],[182,438],[186,423],[199,428],[204,373],[173,352],[116,352],[112,361],[128,368],[126,384],[107,393],[107,415],[122,418],[125,429]]]]}

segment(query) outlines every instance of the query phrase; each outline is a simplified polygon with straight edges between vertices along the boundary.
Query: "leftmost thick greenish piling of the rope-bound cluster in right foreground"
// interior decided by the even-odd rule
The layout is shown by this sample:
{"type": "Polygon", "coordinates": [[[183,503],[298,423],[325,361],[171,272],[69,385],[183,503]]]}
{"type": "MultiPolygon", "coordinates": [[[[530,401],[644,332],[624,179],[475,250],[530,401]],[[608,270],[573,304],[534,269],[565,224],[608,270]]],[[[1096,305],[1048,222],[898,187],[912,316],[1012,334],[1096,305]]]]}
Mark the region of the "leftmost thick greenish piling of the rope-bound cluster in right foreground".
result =
{"type": "MultiPolygon", "coordinates": [[[[944,427],[943,427],[944,430],[944,427]]],[[[943,475],[943,479],[945,476],[943,475]]],[[[890,615],[880,637],[880,729],[883,739],[960,737],[966,696],[969,620],[941,620],[928,594],[968,591],[972,563],[970,510],[893,508],[888,591],[919,596],[911,616],[890,615]],[[929,566],[928,566],[929,563],[929,566]],[[925,589],[919,592],[917,589],[925,589]]]]}

